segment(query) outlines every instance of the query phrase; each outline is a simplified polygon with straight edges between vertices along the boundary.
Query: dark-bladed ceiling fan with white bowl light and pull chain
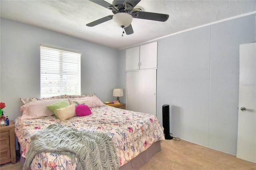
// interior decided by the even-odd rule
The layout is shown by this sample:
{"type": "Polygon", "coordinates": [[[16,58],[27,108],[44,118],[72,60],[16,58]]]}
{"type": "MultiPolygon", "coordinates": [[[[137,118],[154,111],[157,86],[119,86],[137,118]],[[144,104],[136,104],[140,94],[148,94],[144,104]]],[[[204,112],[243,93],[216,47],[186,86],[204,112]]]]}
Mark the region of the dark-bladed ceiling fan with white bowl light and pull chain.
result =
{"type": "Polygon", "coordinates": [[[134,33],[132,29],[132,24],[131,24],[132,18],[154,20],[154,21],[161,21],[161,22],[165,22],[169,18],[168,14],[159,14],[159,13],[144,12],[144,11],[136,10],[136,8],[134,7],[140,2],[140,0],[114,0],[112,4],[104,0],[90,0],[90,1],[100,6],[103,6],[105,8],[108,8],[109,10],[112,10],[114,15],[109,15],[109,16],[100,18],[96,21],[90,22],[89,24],[86,24],[86,26],[89,26],[89,27],[93,27],[113,19],[116,25],[118,25],[123,29],[123,34],[125,30],[126,34],[129,35],[134,33]]]}

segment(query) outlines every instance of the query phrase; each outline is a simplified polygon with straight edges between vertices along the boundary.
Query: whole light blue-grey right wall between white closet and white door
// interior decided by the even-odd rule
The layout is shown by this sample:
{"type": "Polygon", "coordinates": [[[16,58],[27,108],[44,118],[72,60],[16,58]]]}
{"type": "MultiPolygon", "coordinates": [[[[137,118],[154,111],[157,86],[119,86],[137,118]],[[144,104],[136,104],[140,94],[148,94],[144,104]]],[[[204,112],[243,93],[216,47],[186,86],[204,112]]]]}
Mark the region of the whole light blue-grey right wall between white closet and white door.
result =
{"type": "Polygon", "coordinates": [[[239,45],[256,41],[255,14],[158,40],[157,117],[170,132],[236,154],[239,45]]]}

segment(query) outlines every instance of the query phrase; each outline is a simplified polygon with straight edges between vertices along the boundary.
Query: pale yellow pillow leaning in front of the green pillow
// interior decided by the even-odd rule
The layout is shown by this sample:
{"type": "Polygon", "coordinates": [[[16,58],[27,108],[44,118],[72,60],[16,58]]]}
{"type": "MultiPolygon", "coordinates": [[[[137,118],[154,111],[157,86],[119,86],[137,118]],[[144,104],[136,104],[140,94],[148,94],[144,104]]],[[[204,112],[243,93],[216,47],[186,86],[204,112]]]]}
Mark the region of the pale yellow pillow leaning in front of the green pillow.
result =
{"type": "Polygon", "coordinates": [[[62,121],[72,118],[76,116],[76,105],[70,105],[67,107],[56,109],[56,114],[58,115],[58,118],[62,121]]]}

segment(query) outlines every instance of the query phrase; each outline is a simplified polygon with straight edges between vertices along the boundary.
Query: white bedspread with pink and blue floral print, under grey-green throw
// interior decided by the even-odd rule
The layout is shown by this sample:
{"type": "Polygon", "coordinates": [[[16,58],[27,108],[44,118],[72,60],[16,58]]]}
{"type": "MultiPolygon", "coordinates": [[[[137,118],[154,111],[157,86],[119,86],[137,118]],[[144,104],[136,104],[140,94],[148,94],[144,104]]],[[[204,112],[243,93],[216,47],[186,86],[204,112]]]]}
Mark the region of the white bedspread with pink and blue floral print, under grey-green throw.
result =
{"type": "MultiPolygon", "coordinates": [[[[30,145],[30,135],[48,127],[52,123],[60,123],[78,130],[106,132],[112,137],[120,166],[126,164],[138,154],[150,147],[154,142],[164,140],[164,128],[158,119],[151,114],[118,109],[110,106],[90,108],[92,114],[85,117],[72,117],[60,121],[55,115],[40,119],[21,121],[15,119],[15,134],[26,158],[30,145]]],[[[32,161],[32,169],[76,169],[77,160],[55,153],[38,153],[32,161]]]]}

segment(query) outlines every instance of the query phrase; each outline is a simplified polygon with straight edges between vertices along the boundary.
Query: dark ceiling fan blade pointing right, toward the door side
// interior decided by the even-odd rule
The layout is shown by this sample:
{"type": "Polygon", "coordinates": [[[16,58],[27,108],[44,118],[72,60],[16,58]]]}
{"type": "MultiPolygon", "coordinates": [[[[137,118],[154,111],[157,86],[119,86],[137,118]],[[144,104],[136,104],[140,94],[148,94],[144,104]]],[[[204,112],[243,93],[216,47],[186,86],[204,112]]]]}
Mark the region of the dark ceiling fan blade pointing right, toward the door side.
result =
{"type": "Polygon", "coordinates": [[[133,18],[162,21],[162,22],[165,22],[169,18],[168,14],[159,14],[159,13],[144,12],[144,11],[132,12],[131,15],[133,18]]]}

